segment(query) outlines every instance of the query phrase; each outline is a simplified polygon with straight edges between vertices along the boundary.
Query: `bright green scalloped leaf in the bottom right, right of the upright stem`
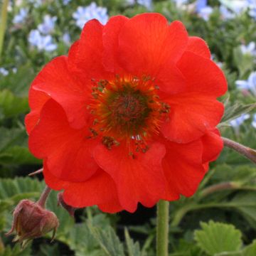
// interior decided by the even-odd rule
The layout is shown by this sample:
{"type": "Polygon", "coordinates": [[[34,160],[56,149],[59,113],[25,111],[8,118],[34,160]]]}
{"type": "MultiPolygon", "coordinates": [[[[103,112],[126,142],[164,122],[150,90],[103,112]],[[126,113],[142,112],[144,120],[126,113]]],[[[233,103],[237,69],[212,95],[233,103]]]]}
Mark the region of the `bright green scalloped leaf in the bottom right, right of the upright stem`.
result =
{"type": "Polygon", "coordinates": [[[198,246],[208,255],[220,252],[236,252],[242,246],[242,233],[233,225],[225,223],[201,223],[202,230],[195,231],[198,246]]]}

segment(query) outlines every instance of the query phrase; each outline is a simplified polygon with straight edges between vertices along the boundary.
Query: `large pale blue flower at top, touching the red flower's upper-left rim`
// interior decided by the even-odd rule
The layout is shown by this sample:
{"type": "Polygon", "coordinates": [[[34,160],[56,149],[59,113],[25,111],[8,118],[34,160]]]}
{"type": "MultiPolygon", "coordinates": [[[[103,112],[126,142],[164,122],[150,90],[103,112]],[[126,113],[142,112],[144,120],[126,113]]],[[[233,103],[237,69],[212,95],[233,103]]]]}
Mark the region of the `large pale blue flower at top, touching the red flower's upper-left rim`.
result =
{"type": "Polygon", "coordinates": [[[97,6],[95,2],[92,2],[90,6],[79,6],[77,11],[73,14],[73,18],[75,18],[76,25],[82,28],[85,23],[90,21],[92,18],[96,18],[100,23],[105,25],[109,16],[107,15],[107,8],[97,6]]]}

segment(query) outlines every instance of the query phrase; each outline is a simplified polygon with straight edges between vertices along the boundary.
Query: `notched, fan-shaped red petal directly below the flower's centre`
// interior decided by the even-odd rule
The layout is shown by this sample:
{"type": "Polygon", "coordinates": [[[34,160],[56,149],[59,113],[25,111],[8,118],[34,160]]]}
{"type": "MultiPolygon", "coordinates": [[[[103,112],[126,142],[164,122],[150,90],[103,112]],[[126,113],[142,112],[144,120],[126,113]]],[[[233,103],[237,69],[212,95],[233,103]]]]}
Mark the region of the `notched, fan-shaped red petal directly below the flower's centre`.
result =
{"type": "Polygon", "coordinates": [[[129,156],[127,145],[113,147],[111,150],[99,145],[94,157],[97,164],[106,171],[117,184],[121,206],[129,212],[137,209],[137,203],[151,207],[159,201],[164,191],[164,176],[161,159],[165,148],[156,143],[145,154],[138,153],[135,159],[129,156]]]}

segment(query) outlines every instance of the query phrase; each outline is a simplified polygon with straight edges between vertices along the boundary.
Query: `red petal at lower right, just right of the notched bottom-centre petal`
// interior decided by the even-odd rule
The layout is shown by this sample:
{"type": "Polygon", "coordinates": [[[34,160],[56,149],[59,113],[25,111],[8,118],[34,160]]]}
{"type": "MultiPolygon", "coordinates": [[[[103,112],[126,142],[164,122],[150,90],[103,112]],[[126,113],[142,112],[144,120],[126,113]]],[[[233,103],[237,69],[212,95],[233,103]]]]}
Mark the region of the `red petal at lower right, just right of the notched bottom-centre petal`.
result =
{"type": "Polygon", "coordinates": [[[188,144],[166,142],[165,145],[166,156],[163,159],[163,169],[167,189],[163,199],[173,201],[178,199],[180,194],[192,196],[205,175],[201,140],[188,144]]]}

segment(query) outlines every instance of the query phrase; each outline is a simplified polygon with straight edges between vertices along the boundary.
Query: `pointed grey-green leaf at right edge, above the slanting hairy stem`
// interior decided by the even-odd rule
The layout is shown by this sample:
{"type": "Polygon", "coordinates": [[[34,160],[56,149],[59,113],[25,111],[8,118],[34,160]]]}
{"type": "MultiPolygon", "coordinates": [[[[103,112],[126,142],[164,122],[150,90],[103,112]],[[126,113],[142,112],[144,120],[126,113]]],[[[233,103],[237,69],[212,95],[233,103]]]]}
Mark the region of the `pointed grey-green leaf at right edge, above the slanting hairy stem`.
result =
{"type": "Polygon", "coordinates": [[[224,116],[221,119],[220,124],[218,124],[218,127],[225,125],[227,122],[229,122],[232,119],[240,117],[241,114],[245,114],[245,113],[248,113],[248,112],[254,110],[255,107],[256,107],[255,103],[248,104],[248,105],[242,105],[240,103],[235,103],[232,106],[226,106],[224,116]]]}

